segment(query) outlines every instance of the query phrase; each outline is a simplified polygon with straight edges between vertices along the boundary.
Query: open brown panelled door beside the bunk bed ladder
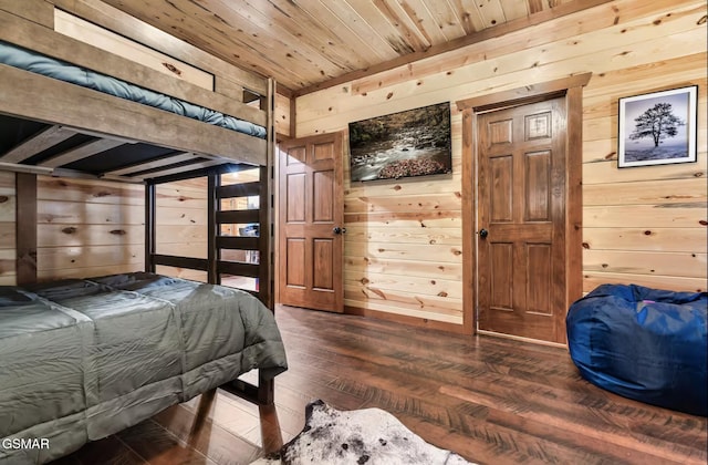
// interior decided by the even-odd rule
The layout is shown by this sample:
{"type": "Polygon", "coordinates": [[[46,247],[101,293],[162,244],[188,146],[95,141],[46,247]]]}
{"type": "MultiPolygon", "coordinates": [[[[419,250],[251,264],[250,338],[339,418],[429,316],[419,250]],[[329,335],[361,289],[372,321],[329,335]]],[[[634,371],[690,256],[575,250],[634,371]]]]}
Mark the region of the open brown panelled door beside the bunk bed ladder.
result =
{"type": "Polygon", "coordinates": [[[280,144],[279,302],[344,310],[342,134],[280,144]]]}

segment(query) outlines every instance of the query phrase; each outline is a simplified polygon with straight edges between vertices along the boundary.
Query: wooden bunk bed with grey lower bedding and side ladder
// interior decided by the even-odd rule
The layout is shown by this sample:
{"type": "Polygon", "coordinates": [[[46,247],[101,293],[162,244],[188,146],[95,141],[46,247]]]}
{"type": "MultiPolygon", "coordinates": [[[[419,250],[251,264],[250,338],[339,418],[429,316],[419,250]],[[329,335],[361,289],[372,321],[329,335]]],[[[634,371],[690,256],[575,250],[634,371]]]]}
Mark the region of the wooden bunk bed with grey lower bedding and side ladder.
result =
{"type": "Polygon", "coordinates": [[[274,83],[194,50],[185,56],[212,73],[211,89],[156,72],[56,32],[54,4],[87,8],[97,23],[134,21],[94,0],[0,6],[0,169],[17,173],[22,209],[17,286],[0,288],[0,362],[14,366],[0,375],[0,440],[55,438],[49,450],[0,448],[0,462],[44,463],[216,388],[272,406],[273,376],[287,369],[272,313],[274,83]],[[225,173],[253,167],[258,182],[220,185],[225,173]],[[144,185],[145,270],[38,282],[42,175],[144,185]],[[208,178],[207,257],[157,254],[157,186],[195,177],[208,178]],[[220,210],[221,199],[238,196],[258,196],[259,208],[220,210]],[[261,234],[220,236],[232,223],[261,234]],[[220,260],[222,249],[260,261],[220,260]],[[206,271],[207,282],[157,275],[159,266],[206,271]],[[260,286],[219,286],[226,272],[260,286]],[[136,363],[150,369],[116,376],[136,363]],[[239,378],[252,369],[257,384],[239,378]]]}

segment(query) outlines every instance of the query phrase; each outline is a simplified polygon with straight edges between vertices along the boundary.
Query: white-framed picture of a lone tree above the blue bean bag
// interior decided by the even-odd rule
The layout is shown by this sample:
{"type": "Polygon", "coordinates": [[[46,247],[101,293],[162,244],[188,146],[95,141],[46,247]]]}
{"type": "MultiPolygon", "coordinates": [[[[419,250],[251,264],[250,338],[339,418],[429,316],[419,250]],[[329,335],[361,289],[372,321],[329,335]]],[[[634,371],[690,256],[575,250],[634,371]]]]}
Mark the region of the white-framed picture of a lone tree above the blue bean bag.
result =
{"type": "Polygon", "coordinates": [[[620,99],[617,166],[696,162],[698,86],[620,99]]]}

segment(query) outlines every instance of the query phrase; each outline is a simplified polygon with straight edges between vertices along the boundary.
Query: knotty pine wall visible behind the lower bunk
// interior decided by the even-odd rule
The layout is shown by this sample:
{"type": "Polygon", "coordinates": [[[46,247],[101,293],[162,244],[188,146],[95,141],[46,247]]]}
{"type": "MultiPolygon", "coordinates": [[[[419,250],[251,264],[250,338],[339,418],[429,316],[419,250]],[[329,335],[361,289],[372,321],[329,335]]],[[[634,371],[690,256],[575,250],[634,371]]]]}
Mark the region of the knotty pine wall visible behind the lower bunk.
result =
{"type": "MultiPolygon", "coordinates": [[[[15,285],[15,174],[0,172],[0,286],[15,285]]],[[[207,199],[202,179],[157,190],[157,251],[206,258],[207,199]]],[[[145,269],[145,187],[38,177],[38,279],[81,278],[145,269]]],[[[206,281],[206,272],[158,267],[206,281]]]]}

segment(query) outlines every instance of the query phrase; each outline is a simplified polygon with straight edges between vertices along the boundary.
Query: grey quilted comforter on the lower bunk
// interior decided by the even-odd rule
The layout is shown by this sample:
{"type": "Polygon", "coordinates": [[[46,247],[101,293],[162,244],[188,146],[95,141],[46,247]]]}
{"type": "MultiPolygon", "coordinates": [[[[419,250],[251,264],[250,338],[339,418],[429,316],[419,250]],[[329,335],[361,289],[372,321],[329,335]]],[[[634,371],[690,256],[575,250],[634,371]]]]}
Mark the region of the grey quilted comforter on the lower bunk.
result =
{"type": "Polygon", "coordinates": [[[256,368],[272,378],[285,353],[237,289],[152,273],[0,287],[0,463],[48,462],[256,368]]]}

